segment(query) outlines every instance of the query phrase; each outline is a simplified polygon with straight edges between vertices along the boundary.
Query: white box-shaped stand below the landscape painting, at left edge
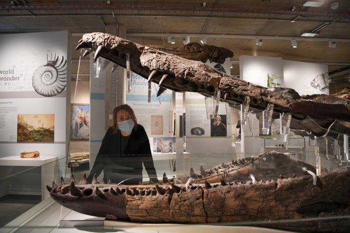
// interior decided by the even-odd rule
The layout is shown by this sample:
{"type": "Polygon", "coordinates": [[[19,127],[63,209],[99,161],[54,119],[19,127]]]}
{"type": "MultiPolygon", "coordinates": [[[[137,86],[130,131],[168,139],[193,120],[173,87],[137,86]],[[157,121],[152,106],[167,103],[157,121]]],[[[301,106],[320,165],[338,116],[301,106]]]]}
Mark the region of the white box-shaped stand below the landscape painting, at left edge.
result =
{"type": "Polygon", "coordinates": [[[0,158],[0,167],[0,178],[9,177],[9,179],[3,179],[0,181],[0,196],[5,196],[7,194],[41,195],[41,200],[44,200],[50,196],[49,192],[46,190],[46,185],[55,181],[55,174],[58,175],[59,166],[58,157],[40,156],[37,158],[21,158],[19,156],[8,156],[0,158]],[[26,191],[24,189],[20,192],[11,191],[12,178],[9,176],[13,175],[13,169],[15,166],[26,166],[31,168],[40,167],[41,190],[26,191]]]}

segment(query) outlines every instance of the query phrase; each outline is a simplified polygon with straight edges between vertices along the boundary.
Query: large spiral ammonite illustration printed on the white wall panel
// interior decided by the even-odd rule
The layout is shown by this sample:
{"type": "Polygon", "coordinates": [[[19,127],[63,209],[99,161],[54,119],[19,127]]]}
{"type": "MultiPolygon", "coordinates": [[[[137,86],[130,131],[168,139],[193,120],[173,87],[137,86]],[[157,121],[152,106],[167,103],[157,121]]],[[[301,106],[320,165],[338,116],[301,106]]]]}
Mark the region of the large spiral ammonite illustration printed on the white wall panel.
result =
{"type": "Polygon", "coordinates": [[[61,93],[67,85],[67,59],[60,53],[47,50],[47,64],[35,69],[33,87],[42,96],[61,93]]]}

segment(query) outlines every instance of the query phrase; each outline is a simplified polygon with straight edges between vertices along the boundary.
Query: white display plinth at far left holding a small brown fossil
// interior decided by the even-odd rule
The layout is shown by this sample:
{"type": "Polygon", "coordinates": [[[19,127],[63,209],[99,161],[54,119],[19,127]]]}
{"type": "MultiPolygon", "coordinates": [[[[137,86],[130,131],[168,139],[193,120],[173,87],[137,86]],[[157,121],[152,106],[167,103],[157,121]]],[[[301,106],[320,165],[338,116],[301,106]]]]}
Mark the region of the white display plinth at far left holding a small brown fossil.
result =
{"type": "Polygon", "coordinates": [[[56,181],[58,157],[41,156],[21,158],[8,156],[0,158],[0,196],[7,194],[41,195],[41,200],[49,197],[47,184],[56,181]]]}

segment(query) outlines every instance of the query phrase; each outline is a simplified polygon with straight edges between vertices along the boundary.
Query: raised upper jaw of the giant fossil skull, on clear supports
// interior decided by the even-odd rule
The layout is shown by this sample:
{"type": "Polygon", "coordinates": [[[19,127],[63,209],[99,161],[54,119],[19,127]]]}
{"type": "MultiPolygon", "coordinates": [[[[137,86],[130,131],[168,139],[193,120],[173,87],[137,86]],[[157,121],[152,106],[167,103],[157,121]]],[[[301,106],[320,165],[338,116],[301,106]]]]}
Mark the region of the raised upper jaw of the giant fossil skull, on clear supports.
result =
{"type": "MultiPolygon", "coordinates": [[[[81,48],[93,51],[95,60],[103,57],[122,67],[126,67],[125,57],[130,54],[130,69],[149,82],[158,83],[161,87],[158,95],[165,88],[198,92],[204,96],[213,96],[220,90],[220,100],[231,106],[243,103],[248,96],[252,109],[265,110],[268,104],[273,104],[274,111],[291,114],[290,128],[300,135],[329,134],[338,138],[340,134],[350,134],[350,102],[343,98],[324,94],[299,96],[291,88],[265,88],[222,73],[202,62],[183,58],[205,60],[202,55],[189,55],[189,49],[182,52],[178,48],[164,49],[164,52],[159,47],[142,46],[106,33],[84,34],[77,46],[77,49],[81,48]]],[[[206,57],[210,60],[215,58],[218,62],[233,55],[223,48],[197,50],[205,54],[210,54],[207,50],[214,51],[206,57]]]]}

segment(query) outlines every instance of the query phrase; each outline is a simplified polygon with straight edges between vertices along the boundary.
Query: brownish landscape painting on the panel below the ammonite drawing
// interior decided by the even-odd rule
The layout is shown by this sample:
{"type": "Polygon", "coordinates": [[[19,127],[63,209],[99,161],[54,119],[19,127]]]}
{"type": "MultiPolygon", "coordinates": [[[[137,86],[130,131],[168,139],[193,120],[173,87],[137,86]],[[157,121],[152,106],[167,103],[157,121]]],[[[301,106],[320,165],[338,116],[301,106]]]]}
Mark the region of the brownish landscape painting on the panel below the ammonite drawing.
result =
{"type": "Polygon", "coordinates": [[[54,142],[54,114],[18,114],[18,142],[54,142]]]}

